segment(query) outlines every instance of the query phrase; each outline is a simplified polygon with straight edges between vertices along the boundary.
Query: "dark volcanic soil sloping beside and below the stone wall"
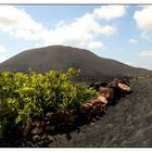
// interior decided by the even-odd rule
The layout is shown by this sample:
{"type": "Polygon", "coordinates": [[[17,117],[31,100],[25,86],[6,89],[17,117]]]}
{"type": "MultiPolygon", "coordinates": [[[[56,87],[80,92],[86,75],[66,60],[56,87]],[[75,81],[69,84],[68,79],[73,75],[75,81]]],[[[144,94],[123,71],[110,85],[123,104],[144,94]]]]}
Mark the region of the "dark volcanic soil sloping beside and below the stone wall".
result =
{"type": "Polygon", "coordinates": [[[131,81],[132,93],[110,105],[98,121],[68,132],[42,135],[34,142],[12,137],[0,147],[141,148],[152,147],[152,78],[131,81]]]}

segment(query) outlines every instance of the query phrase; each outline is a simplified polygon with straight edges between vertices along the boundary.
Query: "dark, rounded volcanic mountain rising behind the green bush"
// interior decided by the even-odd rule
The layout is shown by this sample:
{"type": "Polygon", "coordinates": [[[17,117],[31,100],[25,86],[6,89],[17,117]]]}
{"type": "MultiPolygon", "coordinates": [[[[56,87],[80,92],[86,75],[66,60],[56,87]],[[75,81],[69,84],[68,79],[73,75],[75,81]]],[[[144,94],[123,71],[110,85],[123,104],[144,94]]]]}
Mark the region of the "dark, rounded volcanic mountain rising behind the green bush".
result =
{"type": "Polygon", "coordinates": [[[71,66],[81,69],[84,80],[103,80],[119,76],[152,74],[151,71],[135,68],[121,62],[100,58],[88,50],[51,46],[24,51],[0,64],[0,71],[25,72],[29,67],[39,73],[62,69],[71,66]]]}

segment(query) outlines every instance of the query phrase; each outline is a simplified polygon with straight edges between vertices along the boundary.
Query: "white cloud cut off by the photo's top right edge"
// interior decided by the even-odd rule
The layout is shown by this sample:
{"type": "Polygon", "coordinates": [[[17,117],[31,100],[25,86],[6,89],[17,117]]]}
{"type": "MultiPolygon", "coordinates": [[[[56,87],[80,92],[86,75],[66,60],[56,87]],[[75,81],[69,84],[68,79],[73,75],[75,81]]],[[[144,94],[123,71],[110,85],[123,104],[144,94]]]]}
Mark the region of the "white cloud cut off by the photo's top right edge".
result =
{"type": "Polygon", "coordinates": [[[134,18],[139,29],[142,30],[143,37],[152,36],[152,5],[142,7],[140,11],[136,11],[134,18]]]}

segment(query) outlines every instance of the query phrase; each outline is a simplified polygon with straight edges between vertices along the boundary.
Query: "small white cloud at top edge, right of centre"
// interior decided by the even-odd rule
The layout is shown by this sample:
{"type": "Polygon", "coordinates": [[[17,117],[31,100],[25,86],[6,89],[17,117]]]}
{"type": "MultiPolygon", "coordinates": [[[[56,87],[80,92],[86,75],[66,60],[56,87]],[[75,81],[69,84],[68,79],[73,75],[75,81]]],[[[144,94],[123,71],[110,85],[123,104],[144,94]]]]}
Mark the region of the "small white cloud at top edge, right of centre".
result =
{"type": "Polygon", "coordinates": [[[124,16],[126,13],[125,5],[103,5],[94,10],[93,15],[106,21],[124,16]]]}

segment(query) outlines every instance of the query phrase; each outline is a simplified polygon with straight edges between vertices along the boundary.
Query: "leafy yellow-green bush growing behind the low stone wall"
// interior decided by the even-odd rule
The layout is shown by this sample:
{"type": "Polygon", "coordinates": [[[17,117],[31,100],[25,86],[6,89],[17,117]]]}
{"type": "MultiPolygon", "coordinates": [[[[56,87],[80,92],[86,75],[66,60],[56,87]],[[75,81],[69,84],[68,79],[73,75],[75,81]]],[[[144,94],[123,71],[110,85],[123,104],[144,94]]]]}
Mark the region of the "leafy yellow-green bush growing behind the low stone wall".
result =
{"type": "Polygon", "coordinates": [[[79,109],[97,94],[87,85],[71,80],[79,73],[73,67],[67,73],[50,71],[45,75],[31,69],[29,74],[0,73],[0,131],[3,132],[10,124],[16,126],[45,118],[47,111],[52,109],[79,109]]]}

